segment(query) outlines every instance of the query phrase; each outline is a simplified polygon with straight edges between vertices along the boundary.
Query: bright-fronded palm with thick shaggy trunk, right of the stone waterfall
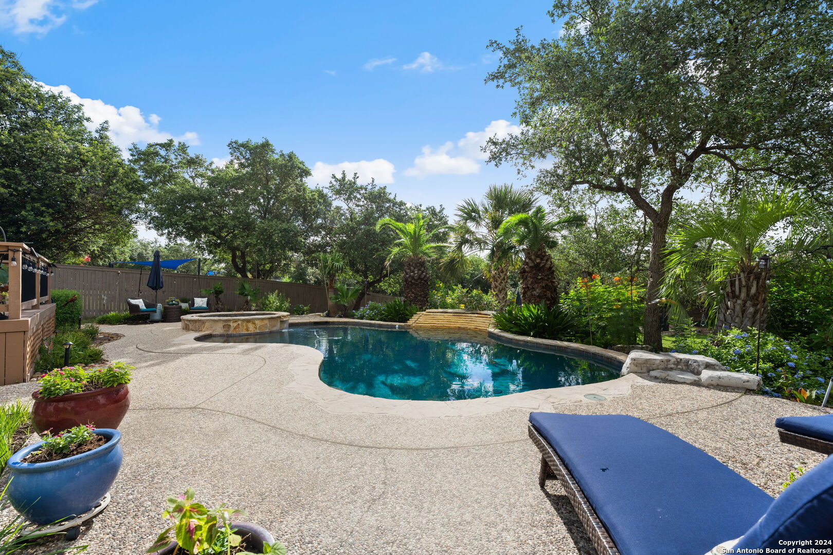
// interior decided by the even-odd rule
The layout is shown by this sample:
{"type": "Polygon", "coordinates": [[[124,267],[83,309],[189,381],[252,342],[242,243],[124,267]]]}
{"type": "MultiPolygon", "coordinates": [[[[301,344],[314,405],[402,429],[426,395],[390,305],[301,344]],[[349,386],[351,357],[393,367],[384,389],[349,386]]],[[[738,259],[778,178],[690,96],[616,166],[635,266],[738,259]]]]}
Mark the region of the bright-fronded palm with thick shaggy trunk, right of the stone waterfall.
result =
{"type": "Polygon", "coordinates": [[[586,224],[587,216],[554,219],[541,206],[506,218],[497,233],[523,250],[521,300],[523,303],[552,307],[558,304],[558,281],[549,250],[558,243],[562,230],[586,224]]]}

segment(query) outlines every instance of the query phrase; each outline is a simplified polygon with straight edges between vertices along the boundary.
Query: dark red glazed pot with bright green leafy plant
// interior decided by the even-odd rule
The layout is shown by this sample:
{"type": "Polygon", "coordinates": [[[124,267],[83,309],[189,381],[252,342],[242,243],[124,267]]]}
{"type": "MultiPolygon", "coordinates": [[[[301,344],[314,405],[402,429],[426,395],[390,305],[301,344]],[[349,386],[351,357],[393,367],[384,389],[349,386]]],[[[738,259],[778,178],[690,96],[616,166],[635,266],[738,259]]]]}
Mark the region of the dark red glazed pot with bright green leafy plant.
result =
{"type": "Polygon", "coordinates": [[[57,368],[42,374],[41,389],[32,394],[32,426],[38,434],[59,432],[78,424],[118,428],[130,407],[132,370],[123,362],[103,368],[57,368]]]}

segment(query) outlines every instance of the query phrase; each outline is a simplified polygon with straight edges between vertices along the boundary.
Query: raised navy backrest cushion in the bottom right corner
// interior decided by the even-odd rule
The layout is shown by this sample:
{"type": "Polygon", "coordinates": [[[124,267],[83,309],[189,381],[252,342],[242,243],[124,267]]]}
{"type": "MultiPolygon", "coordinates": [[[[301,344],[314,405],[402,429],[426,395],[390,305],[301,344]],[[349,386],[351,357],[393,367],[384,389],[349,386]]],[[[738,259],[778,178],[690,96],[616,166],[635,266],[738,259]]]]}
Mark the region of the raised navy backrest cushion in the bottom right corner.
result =
{"type": "MultiPolygon", "coordinates": [[[[833,457],[791,483],[735,548],[783,549],[796,545],[785,541],[822,539],[833,539],[833,457]]],[[[815,547],[826,549],[830,544],[815,547]]]]}

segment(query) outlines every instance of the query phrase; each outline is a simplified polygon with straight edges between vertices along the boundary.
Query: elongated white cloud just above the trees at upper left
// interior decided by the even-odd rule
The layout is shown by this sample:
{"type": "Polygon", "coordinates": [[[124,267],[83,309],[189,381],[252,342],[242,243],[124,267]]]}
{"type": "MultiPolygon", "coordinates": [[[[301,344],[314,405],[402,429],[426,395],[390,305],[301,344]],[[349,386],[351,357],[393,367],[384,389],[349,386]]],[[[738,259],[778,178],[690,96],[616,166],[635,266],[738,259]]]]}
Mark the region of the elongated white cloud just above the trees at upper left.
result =
{"type": "Polygon", "coordinates": [[[179,136],[172,135],[167,131],[161,131],[159,129],[159,121],[162,120],[161,117],[156,114],[150,114],[147,117],[143,116],[142,111],[135,106],[117,108],[101,100],[79,97],[67,85],[53,87],[51,85],[44,85],[43,83],[38,84],[50,91],[60,92],[73,104],[80,104],[84,108],[84,113],[92,120],[87,123],[90,129],[95,129],[104,121],[108,121],[113,143],[124,150],[134,142],[158,142],[167,141],[168,139],[185,141],[189,145],[200,144],[199,136],[194,131],[186,131],[179,136]]]}

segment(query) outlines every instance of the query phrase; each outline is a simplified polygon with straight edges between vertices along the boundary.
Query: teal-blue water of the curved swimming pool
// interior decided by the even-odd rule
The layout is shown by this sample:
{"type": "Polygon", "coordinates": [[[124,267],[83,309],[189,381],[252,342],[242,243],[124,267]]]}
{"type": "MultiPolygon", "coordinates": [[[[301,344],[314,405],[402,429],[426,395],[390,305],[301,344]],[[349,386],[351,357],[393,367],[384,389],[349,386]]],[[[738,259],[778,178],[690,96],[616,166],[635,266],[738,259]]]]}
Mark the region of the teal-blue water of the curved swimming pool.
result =
{"type": "Polygon", "coordinates": [[[500,344],[485,333],[299,326],[268,334],[211,336],[219,343],[291,343],[324,355],[322,381],[384,399],[447,401],[594,384],[619,370],[500,344]]]}

